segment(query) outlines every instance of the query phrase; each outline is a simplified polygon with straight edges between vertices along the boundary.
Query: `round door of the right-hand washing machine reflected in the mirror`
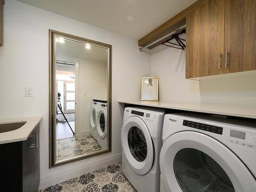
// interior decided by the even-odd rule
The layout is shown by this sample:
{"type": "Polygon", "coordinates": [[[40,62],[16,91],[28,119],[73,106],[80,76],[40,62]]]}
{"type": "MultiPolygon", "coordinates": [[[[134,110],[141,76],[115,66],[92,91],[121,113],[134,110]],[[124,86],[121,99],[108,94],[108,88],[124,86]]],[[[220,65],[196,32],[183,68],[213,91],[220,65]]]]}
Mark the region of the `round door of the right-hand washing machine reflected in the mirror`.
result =
{"type": "Polygon", "coordinates": [[[96,125],[97,125],[97,130],[98,130],[98,134],[99,137],[101,139],[104,139],[106,136],[106,111],[104,108],[100,108],[98,115],[97,115],[97,119],[96,119],[96,125]]]}

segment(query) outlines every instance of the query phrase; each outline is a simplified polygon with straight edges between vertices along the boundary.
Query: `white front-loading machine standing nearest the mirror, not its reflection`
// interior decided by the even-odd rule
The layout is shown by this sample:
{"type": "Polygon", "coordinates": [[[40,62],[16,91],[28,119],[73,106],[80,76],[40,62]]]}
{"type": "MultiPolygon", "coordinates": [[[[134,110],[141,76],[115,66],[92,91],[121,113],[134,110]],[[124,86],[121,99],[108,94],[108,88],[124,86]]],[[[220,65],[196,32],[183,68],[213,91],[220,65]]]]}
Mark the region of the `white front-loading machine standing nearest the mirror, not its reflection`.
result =
{"type": "Polygon", "coordinates": [[[159,191],[163,117],[162,110],[124,109],[122,170],[139,192],[159,191]]]}

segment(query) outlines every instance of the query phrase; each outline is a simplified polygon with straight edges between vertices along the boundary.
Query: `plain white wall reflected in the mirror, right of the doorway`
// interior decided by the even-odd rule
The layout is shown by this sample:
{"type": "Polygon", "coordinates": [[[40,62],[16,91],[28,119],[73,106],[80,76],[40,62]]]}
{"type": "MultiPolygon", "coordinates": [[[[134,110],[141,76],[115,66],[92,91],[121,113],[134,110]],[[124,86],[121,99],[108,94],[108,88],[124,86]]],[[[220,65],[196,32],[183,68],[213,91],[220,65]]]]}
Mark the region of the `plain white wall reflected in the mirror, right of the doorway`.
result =
{"type": "Polygon", "coordinates": [[[90,112],[93,99],[106,100],[106,62],[79,59],[79,130],[90,133],[90,112]],[[84,96],[86,95],[86,96],[84,96]]]}

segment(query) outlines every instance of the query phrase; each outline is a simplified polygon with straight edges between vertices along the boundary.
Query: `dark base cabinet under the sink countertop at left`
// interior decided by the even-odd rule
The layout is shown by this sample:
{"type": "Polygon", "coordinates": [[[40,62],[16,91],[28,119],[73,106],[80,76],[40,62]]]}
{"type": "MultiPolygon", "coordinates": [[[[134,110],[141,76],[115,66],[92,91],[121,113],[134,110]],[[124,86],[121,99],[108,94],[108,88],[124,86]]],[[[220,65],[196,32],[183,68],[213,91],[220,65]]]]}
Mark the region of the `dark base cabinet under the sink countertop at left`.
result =
{"type": "Polygon", "coordinates": [[[0,191],[36,192],[39,182],[38,124],[26,141],[0,144],[0,191]]]}

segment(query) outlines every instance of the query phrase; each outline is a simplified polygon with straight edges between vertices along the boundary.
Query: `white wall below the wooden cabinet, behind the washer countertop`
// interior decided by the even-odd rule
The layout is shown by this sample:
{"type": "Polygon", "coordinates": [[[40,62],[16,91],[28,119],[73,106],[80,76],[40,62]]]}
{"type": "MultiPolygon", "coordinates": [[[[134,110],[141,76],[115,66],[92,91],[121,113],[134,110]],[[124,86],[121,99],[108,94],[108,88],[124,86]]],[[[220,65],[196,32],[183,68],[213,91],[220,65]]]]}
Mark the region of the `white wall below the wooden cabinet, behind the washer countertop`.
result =
{"type": "Polygon", "coordinates": [[[151,52],[151,76],[159,77],[161,101],[256,106],[256,75],[232,74],[185,79],[185,51],[158,46],[151,52]]]}

